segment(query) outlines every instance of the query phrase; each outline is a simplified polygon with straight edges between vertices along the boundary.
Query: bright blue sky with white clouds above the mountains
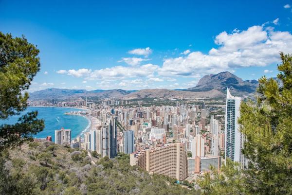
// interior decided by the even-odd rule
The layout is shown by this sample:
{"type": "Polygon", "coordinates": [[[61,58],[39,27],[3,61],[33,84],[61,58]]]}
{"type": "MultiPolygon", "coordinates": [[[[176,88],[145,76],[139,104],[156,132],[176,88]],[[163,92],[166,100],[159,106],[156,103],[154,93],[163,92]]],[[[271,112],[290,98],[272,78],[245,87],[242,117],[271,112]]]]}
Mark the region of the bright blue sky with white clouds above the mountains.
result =
{"type": "Polygon", "coordinates": [[[30,91],[186,89],[221,71],[275,77],[292,0],[0,0],[0,31],[40,50],[30,91]]]}

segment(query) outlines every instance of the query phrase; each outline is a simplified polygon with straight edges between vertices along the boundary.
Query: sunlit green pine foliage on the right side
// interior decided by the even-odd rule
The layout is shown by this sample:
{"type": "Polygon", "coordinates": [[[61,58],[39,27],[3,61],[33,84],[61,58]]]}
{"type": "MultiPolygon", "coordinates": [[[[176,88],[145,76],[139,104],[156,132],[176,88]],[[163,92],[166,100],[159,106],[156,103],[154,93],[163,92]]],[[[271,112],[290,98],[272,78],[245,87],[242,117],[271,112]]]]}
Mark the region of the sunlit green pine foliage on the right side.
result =
{"type": "Polygon", "coordinates": [[[203,194],[292,194],[292,55],[280,53],[279,81],[259,79],[257,104],[240,105],[240,131],[245,135],[246,169],[227,160],[221,173],[199,181],[203,194]]]}

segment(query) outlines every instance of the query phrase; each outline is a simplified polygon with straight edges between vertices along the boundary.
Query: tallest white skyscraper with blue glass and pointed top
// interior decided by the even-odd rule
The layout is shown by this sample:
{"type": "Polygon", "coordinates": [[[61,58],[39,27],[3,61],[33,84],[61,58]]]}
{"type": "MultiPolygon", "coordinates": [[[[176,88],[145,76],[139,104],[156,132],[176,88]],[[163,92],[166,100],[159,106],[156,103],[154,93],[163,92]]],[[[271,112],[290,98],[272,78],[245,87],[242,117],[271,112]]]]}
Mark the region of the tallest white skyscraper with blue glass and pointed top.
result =
{"type": "Polygon", "coordinates": [[[226,110],[225,110],[225,159],[230,158],[246,166],[246,160],[241,154],[243,136],[239,132],[238,117],[240,117],[241,99],[230,94],[227,89],[226,110]]]}

